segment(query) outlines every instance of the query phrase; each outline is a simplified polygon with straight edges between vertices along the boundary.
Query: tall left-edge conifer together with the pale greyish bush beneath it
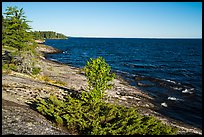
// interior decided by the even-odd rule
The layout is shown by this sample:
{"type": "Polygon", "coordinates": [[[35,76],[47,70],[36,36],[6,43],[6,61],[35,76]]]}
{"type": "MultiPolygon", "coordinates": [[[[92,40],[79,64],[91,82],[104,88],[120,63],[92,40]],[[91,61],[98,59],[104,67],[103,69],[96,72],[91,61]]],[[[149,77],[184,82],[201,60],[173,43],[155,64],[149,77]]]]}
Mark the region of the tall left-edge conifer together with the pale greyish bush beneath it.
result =
{"type": "MultiPolygon", "coordinates": [[[[35,67],[37,44],[30,34],[30,26],[23,9],[7,7],[2,15],[2,46],[4,51],[10,51],[10,58],[4,60],[10,70],[37,74],[39,68],[35,67]],[[9,59],[9,60],[8,60],[9,59]],[[11,61],[10,61],[11,60],[11,61]]],[[[5,67],[4,67],[5,68],[5,67]]]]}

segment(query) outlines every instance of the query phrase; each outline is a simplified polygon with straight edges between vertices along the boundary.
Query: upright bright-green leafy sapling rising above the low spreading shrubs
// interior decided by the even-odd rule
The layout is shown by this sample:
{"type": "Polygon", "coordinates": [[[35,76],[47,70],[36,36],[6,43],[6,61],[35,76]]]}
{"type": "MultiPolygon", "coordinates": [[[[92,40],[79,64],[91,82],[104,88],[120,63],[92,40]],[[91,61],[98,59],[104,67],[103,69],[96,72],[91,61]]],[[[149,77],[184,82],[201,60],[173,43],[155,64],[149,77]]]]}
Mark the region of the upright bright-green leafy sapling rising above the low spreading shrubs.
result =
{"type": "Polygon", "coordinates": [[[87,61],[84,72],[88,79],[89,97],[94,101],[102,99],[105,90],[112,88],[113,85],[110,82],[115,78],[115,74],[110,74],[110,70],[110,66],[102,57],[87,61]]]}

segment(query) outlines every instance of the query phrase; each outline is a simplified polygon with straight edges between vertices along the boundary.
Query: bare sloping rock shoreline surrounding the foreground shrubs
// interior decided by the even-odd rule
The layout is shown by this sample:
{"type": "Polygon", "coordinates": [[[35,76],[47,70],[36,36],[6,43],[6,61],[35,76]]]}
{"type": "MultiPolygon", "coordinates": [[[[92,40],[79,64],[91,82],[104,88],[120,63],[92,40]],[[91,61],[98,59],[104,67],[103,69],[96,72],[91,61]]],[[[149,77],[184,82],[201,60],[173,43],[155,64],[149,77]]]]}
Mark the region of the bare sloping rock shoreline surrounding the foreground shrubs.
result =
{"type": "MultiPolygon", "coordinates": [[[[16,72],[3,74],[2,134],[4,135],[69,134],[65,129],[55,127],[53,123],[46,120],[42,115],[34,112],[29,107],[28,102],[38,97],[48,97],[50,94],[56,94],[59,98],[62,98],[66,92],[81,92],[86,90],[87,80],[81,69],[45,58],[46,54],[61,52],[60,50],[39,44],[37,52],[41,55],[38,59],[38,64],[42,68],[40,75],[56,81],[63,81],[64,85],[56,85],[39,80],[37,77],[33,78],[16,72]],[[31,121],[27,121],[28,119],[31,119],[31,121]],[[43,120],[45,122],[42,123],[41,121],[43,120]]],[[[135,106],[141,114],[156,116],[165,123],[178,127],[178,134],[202,135],[201,129],[167,118],[154,111],[155,106],[151,103],[154,99],[135,87],[128,85],[121,78],[118,77],[113,82],[115,84],[113,89],[106,92],[106,102],[135,106]]]]}

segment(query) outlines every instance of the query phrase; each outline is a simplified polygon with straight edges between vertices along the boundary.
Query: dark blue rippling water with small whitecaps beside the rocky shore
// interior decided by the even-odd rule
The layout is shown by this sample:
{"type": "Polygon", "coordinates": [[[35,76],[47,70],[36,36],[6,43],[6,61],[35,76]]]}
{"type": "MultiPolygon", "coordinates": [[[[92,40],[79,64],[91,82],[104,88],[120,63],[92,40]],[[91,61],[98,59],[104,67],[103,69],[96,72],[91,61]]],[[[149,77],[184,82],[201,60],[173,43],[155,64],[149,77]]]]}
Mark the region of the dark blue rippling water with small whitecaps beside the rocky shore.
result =
{"type": "Polygon", "coordinates": [[[48,59],[75,67],[102,56],[115,73],[155,98],[158,112],[202,127],[201,39],[70,38],[45,44],[63,50],[48,59]]]}

